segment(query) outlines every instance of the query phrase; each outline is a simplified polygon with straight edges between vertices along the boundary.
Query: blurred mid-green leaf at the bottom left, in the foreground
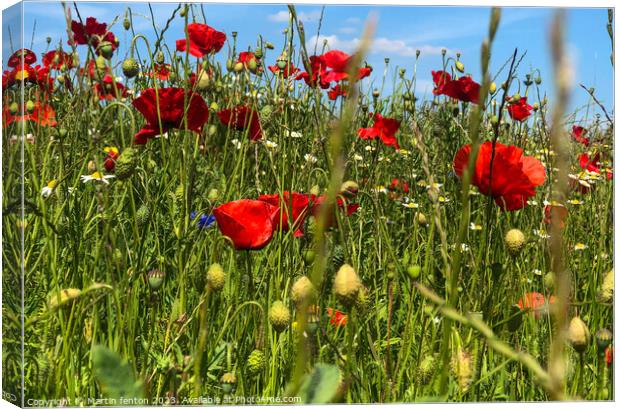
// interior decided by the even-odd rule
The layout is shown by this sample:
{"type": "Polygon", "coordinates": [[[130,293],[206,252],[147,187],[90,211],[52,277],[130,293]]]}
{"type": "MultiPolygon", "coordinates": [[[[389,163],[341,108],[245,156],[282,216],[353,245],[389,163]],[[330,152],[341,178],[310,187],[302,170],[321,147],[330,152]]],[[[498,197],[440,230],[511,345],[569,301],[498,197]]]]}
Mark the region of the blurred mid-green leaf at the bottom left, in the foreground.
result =
{"type": "Polygon", "coordinates": [[[119,399],[139,399],[144,396],[142,382],[134,377],[131,366],[116,352],[97,345],[91,353],[95,378],[99,382],[103,397],[116,400],[110,402],[114,406],[120,404],[119,399]]]}

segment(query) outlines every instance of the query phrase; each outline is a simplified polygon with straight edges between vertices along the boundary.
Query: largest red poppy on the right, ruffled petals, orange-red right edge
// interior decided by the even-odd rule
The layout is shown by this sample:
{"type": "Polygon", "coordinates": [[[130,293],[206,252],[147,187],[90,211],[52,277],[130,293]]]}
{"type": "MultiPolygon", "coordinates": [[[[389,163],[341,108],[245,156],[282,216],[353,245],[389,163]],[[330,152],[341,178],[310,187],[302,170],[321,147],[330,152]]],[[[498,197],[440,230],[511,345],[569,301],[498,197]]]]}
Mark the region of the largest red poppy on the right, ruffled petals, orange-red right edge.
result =
{"type": "MultiPolygon", "coordinates": [[[[454,170],[459,177],[468,166],[470,152],[471,146],[465,145],[454,157],[454,170]]],[[[492,154],[492,142],[480,146],[471,177],[472,185],[478,187],[480,193],[493,197],[502,210],[523,208],[536,194],[536,187],[544,183],[545,167],[538,159],[523,156],[523,149],[498,142],[495,144],[493,172],[490,172],[492,154]]]]}

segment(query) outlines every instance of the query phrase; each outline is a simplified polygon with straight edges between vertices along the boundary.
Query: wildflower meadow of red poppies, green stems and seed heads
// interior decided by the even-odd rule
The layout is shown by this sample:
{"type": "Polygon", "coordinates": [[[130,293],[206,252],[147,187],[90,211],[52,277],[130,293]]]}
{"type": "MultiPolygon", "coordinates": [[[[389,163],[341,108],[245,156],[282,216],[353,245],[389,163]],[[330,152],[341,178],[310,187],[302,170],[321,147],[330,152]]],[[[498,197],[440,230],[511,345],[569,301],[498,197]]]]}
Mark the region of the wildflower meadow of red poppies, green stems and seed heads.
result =
{"type": "Polygon", "coordinates": [[[3,63],[5,399],[614,399],[614,107],[567,112],[562,11],[549,94],[490,72],[500,9],[470,73],[371,67],[372,20],[313,52],[294,6],[281,48],[58,7],[3,63]]]}

